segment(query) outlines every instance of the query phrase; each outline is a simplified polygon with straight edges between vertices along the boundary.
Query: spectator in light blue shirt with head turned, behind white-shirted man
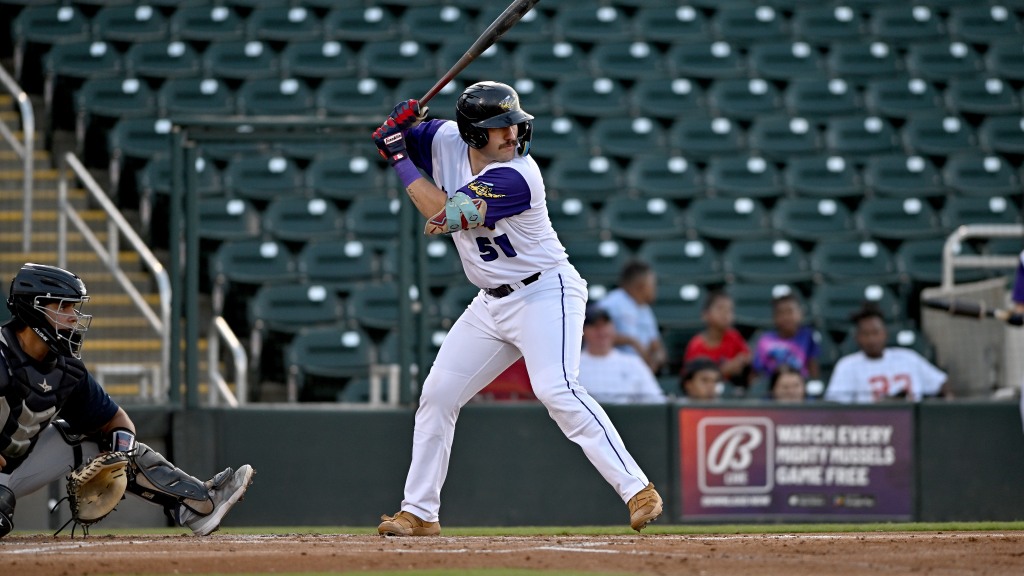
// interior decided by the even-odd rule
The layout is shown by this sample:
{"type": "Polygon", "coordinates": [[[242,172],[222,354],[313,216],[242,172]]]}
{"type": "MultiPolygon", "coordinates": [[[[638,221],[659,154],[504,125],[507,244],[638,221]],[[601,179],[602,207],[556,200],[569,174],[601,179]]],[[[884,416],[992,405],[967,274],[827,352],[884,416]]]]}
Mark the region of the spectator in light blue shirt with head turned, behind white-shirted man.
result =
{"type": "Polygon", "coordinates": [[[650,307],[657,294],[656,281],[650,264],[630,261],[623,266],[618,287],[600,302],[615,324],[615,345],[642,358],[654,374],[665,364],[665,346],[650,307]]]}

